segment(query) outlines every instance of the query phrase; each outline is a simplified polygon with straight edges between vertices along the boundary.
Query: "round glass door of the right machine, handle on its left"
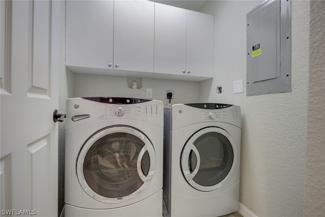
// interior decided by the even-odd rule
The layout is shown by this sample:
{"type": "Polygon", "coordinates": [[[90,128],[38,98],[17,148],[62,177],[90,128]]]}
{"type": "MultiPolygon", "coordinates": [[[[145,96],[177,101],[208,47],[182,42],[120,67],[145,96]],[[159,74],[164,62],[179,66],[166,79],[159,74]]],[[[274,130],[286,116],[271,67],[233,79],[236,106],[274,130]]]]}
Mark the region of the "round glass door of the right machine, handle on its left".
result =
{"type": "Polygon", "coordinates": [[[214,191],[236,163],[235,143],[226,131],[209,127],[194,133],[184,145],[181,168],[187,182],[200,191],[214,191]]]}

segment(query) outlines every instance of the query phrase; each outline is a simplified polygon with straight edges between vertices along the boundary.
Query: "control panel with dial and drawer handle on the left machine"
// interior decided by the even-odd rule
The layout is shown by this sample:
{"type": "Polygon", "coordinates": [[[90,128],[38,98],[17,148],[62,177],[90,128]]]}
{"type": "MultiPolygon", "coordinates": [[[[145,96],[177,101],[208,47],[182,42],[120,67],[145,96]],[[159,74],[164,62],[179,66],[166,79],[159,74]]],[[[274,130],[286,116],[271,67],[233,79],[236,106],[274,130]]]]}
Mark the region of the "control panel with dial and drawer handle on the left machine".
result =
{"type": "Polygon", "coordinates": [[[70,98],[67,100],[66,129],[87,122],[108,120],[127,125],[128,120],[140,120],[164,126],[164,103],[138,98],[70,98]],[[124,120],[126,119],[126,120],[124,120]]]}

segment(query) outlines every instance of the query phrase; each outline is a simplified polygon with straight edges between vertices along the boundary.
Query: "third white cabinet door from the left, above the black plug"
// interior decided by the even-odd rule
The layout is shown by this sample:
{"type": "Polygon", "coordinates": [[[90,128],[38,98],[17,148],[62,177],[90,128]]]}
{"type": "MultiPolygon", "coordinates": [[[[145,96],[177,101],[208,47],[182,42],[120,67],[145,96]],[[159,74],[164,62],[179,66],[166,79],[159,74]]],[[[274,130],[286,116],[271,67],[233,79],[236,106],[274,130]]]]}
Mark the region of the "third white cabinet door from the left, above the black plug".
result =
{"type": "Polygon", "coordinates": [[[155,3],[154,72],[182,75],[186,60],[186,10],[155,3]]]}

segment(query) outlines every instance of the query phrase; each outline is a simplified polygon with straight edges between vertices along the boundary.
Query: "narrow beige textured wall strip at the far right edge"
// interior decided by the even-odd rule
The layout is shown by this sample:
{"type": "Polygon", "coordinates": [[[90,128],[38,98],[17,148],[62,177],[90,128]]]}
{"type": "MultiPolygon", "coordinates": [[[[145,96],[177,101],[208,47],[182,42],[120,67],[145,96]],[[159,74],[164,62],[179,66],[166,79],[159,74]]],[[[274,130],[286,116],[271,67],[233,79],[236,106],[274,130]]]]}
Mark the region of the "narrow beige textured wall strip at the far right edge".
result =
{"type": "Polygon", "coordinates": [[[325,214],[325,2],[310,2],[305,216],[325,214]]]}

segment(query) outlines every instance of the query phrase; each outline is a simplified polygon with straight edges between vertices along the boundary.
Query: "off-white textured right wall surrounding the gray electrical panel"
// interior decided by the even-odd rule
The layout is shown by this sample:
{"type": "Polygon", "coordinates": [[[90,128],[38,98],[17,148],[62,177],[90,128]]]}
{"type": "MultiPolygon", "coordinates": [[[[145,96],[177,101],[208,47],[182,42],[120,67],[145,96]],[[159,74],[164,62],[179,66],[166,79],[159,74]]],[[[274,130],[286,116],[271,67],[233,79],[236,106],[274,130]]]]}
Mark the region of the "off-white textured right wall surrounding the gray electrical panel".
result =
{"type": "Polygon", "coordinates": [[[214,79],[200,83],[201,101],[242,108],[240,202],[257,216],[303,216],[307,142],[309,2],[292,2],[291,92],[233,94],[246,83],[246,14],[262,1],[211,1],[215,15],[214,79]],[[216,86],[222,94],[216,94],[216,86]]]}

